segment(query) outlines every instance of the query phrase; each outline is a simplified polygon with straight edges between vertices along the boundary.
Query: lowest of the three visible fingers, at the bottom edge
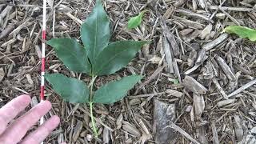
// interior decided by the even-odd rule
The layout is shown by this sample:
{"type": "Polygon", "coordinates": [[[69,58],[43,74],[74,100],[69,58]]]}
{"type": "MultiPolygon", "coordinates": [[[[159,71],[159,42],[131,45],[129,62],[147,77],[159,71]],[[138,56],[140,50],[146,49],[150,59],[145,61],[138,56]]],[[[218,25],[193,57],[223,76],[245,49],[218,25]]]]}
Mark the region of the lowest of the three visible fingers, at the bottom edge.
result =
{"type": "Polygon", "coordinates": [[[38,128],[38,130],[35,130],[33,133],[28,135],[23,141],[22,144],[30,144],[30,143],[40,143],[42,142],[52,130],[54,130],[60,120],[58,116],[53,116],[48,121],[46,121],[42,126],[38,128]]]}

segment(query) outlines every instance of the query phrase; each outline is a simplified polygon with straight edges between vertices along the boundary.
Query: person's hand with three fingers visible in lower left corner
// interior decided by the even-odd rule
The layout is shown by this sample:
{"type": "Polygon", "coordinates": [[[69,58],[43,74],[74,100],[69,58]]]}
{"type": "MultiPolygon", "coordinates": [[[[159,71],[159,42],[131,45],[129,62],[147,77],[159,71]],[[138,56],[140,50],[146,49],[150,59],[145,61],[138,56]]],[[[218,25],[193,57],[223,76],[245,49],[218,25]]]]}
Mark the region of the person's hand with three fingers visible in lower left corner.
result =
{"type": "Polygon", "coordinates": [[[37,144],[42,142],[58,126],[60,120],[58,116],[53,116],[42,126],[39,126],[37,130],[22,139],[30,127],[51,109],[51,103],[43,101],[12,122],[17,114],[30,104],[30,101],[30,96],[21,95],[0,109],[0,144],[16,144],[18,142],[37,144]]]}

